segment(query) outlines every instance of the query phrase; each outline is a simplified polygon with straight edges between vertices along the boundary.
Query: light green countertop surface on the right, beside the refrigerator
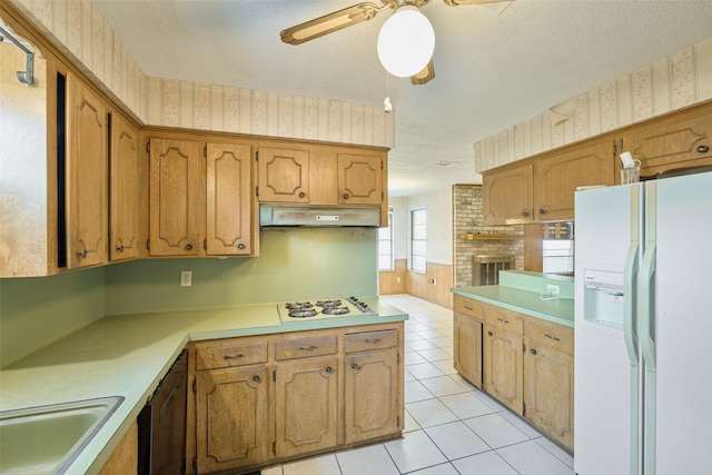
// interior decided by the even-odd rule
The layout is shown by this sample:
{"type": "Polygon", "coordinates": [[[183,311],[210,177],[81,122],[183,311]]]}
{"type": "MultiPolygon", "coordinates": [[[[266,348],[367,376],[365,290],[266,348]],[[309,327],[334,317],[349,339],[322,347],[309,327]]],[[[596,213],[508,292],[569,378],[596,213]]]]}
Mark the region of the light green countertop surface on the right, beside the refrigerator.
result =
{"type": "Polygon", "coordinates": [[[543,300],[541,291],[502,285],[455,287],[452,291],[555,324],[574,326],[574,300],[571,298],[543,300]]]}

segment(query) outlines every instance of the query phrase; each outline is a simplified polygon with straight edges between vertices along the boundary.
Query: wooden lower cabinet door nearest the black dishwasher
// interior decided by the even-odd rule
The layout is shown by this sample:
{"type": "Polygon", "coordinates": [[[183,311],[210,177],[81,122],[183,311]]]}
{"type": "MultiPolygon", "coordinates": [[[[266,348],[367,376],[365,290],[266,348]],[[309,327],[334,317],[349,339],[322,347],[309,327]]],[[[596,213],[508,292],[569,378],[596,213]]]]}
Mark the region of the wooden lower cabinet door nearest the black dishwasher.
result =
{"type": "Polygon", "coordinates": [[[265,463],[271,432],[267,367],[198,372],[198,473],[265,463]]]}

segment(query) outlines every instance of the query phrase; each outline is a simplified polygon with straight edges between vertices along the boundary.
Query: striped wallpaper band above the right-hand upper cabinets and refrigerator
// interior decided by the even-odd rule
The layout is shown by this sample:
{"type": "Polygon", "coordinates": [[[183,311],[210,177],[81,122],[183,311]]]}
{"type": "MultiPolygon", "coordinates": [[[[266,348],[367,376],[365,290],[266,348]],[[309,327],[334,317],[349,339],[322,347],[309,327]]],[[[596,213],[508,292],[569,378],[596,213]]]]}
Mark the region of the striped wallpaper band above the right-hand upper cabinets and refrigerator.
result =
{"type": "Polygon", "coordinates": [[[712,99],[712,38],[474,144],[488,170],[695,102],[712,99]]]}

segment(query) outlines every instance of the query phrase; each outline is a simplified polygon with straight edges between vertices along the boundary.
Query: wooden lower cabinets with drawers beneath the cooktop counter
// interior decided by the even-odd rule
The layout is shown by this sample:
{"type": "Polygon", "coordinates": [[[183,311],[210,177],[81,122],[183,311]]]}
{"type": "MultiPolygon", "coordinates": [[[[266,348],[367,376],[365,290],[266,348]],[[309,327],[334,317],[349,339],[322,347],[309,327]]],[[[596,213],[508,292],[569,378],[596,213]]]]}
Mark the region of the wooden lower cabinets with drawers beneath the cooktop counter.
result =
{"type": "Polygon", "coordinates": [[[188,474],[241,473],[403,431],[403,323],[191,345],[188,474]]]}

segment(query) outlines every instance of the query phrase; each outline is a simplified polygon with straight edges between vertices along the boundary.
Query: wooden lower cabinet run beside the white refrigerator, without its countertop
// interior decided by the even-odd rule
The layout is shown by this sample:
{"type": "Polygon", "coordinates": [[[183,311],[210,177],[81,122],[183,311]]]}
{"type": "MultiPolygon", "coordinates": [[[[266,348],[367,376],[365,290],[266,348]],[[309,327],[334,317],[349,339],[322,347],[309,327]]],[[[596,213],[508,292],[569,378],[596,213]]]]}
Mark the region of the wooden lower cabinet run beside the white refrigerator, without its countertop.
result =
{"type": "Polygon", "coordinates": [[[462,296],[454,307],[457,373],[573,449],[573,328],[462,296]]]}

